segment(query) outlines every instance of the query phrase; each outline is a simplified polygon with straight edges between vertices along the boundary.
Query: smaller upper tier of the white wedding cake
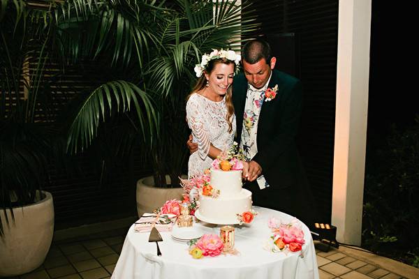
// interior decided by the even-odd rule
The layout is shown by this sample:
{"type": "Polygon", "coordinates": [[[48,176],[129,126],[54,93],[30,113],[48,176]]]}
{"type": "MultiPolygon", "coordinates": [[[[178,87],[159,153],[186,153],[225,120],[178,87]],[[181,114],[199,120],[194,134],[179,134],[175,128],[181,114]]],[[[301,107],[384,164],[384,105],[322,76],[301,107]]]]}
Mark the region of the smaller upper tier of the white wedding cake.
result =
{"type": "Polygon", "coordinates": [[[210,184],[220,190],[220,197],[236,197],[242,190],[242,171],[211,169],[210,184]]]}

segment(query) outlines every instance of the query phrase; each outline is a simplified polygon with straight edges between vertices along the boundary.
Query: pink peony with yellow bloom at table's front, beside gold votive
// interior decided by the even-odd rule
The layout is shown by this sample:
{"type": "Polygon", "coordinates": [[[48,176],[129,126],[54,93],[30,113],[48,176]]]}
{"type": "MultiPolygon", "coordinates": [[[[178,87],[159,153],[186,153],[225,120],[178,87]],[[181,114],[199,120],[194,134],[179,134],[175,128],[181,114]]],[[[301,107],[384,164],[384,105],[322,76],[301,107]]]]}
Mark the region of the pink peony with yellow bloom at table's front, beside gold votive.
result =
{"type": "Polygon", "coordinates": [[[189,241],[189,254],[194,259],[205,256],[215,257],[223,252],[224,244],[216,234],[204,234],[200,239],[189,241]]]}

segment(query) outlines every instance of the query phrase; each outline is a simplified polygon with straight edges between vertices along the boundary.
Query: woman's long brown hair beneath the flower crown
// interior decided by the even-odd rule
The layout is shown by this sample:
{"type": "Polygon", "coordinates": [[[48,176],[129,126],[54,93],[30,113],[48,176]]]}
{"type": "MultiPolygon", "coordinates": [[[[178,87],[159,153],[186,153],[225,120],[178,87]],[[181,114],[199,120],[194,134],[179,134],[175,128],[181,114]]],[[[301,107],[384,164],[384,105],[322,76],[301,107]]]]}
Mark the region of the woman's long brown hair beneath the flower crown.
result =
{"type": "MultiPolygon", "coordinates": [[[[223,63],[223,64],[227,64],[230,65],[231,63],[233,63],[234,65],[234,72],[236,70],[236,65],[234,63],[234,61],[228,60],[226,58],[219,58],[219,59],[212,59],[210,61],[208,61],[207,67],[205,68],[205,73],[207,73],[208,75],[211,75],[212,70],[214,70],[214,67],[216,66],[216,64],[218,63],[223,63]]],[[[191,91],[191,93],[189,93],[188,97],[186,97],[186,101],[189,100],[189,98],[191,97],[191,95],[193,93],[196,93],[202,89],[205,88],[205,85],[207,84],[207,79],[205,78],[205,75],[203,73],[203,75],[201,75],[195,86],[193,86],[193,89],[191,91]]],[[[233,130],[233,114],[234,114],[234,107],[233,107],[233,101],[231,100],[231,95],[233,92],[233,84],[230,84],[230,86],[228,86],[227,92],[226,92],[226,107],[227,107],[227,115],[226,115],[226,120],[228,123],[228,132],[230,133],[233,130]]]]}

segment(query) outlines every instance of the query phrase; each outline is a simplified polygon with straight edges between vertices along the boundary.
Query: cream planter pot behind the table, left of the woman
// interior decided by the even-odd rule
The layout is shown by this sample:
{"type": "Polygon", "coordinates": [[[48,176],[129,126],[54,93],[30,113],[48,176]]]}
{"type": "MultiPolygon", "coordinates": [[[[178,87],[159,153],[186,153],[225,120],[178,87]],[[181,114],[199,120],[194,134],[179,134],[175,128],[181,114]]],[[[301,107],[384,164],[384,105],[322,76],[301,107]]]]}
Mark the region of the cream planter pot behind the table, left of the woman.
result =
{"type": "MultiPolygon", "coordinates": [[[[166,180],[170,183],[170,177],[166,176],[166,180]]],[[[142,213],[152,213],[154,209],[158,209],[168,199],[182,199],[184,190],[179,188],[160,188],[154,187],[154,177],[147,176],[137,182],[137,212],[138,217],[142,213]]]]}

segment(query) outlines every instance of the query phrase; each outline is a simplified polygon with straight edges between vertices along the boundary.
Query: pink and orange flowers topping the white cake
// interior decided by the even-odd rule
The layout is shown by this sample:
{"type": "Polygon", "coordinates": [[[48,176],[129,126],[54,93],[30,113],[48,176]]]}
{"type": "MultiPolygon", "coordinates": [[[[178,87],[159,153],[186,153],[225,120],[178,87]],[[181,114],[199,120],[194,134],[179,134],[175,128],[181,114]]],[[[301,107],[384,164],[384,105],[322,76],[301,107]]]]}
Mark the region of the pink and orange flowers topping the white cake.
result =
{"type": "Polygon", "coordinates": [[[237,151],[237,142],[234,142],[228,151],[223,151],[212,161],[214,169],[222,169],[223,171],[229,170],[242,170],[244,160],[242,150],[237,151]]]}

